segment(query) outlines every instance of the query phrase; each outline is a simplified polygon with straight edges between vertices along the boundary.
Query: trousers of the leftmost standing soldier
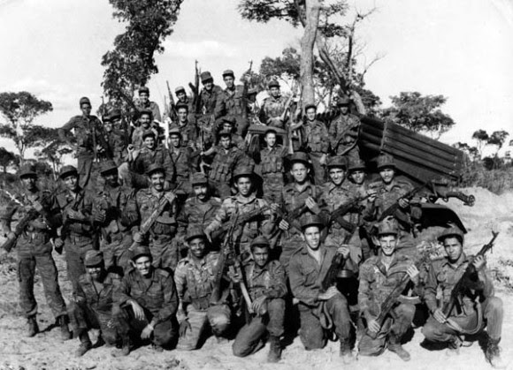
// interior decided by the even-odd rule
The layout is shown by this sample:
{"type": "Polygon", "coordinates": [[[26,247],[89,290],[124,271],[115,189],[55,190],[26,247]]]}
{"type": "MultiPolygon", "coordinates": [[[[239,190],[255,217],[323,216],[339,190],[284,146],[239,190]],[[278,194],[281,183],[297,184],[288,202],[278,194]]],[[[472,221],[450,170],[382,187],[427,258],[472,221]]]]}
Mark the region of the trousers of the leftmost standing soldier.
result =
{"type": "MultiPolygon", "coordinates": [[[[50,244],[49,244],[50,245],[50,244]]],[[[51,251],[51,245],[50,245],[51,251]]],[[[19,306],[26,317],[37,313],[37,302],[34,297],[34,276],[37,267],[42,279],[46,302],[54,315],[66,314],[66,306],[60,287],[58,273],[51,252],[18,256],[19,306]]]]}

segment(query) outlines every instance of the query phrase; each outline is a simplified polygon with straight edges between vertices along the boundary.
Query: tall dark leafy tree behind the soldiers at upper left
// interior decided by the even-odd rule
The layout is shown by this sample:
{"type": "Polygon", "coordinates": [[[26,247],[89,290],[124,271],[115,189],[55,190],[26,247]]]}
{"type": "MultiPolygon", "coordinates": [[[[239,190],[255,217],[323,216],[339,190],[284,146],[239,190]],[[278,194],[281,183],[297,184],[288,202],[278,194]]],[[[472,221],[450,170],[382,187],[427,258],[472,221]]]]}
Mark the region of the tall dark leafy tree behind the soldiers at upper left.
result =
{"type": "Polygon", "coordinates": [[[164,52],[162,42],[172,34],[183,0],[109,0],[113,17],[126,22],[126,32],[114,40],[114,49],[102,57],[103,90],[111,96],[131,98],[158,72],[155,53],[164,52]]]}

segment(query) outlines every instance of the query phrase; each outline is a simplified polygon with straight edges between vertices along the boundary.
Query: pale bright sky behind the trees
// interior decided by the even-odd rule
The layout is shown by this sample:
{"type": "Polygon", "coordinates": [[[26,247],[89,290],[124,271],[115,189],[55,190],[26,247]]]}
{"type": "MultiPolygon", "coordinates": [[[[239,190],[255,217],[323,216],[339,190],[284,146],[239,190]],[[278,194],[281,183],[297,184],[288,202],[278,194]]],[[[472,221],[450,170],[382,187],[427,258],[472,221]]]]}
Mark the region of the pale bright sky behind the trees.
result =
{"type": "MultiPolygon", "coordinates": [[[[194,61],[210,70],[246,71],[266,57],[297,47],[302,30],[285,22],[241,19],[237,0],[185,0],[174,32],[157,56],[159,73],[149,81],[162,107],[165,81],[187,86],[194,61]]],[[[456,127],[442,137],[471,143],[472,132],[506,130],[513,135],[513,2],[511,0],[356,0],[376,7],[358,28],[364,56],[384,56],[366,75],[367,87],[384,106],[402,91],[443,94],[442,107],[456,127]]],[[[107,0],[0,0],[0,91],[29,91],[52,102],[38,124],[57,127],[80,114],[88,96],[101,103],[103,54],[123,25],[111,18],[107,0]]],[[[348,19],[351,15],[348,15],[348,19]]],[[[364,63],[364,60],[362,60],[364,63]]],[[[513,138],[509,138],[513,139],[513,138]]],[[[12,150],[11,144],[0,145],[12,150]]]]}

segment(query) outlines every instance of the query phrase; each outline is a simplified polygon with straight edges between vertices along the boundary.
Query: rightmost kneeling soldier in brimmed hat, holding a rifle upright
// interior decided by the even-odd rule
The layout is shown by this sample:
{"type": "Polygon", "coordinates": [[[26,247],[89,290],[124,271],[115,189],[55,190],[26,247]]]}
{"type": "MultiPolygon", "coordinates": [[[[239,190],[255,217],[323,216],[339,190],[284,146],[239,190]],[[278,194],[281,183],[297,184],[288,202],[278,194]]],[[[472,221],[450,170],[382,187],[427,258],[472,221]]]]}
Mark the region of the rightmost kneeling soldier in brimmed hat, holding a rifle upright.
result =
{"type": "Polygon", "coordinates": [[[458,354],[463,344],[461,337],[475,334],[486,325],[486,361],[495,368],[504,368],[499,347],[504,315],[502,299],[494,296],[494,283],[486,273],[484,256],[473,258],[464,253],[463,240],[463,232],[454,226],[440,234],[439,241],[447,257],[433,261],[429,269],[424,298],[431,317],[422,333],[428,341],[448,344],[448,353],[458,354]],[[474,265],[482,288],[465,291],[461,313],[456,310],[444,313],[442,307],[448,304],[451,292],[470,264],[474,265]]]}

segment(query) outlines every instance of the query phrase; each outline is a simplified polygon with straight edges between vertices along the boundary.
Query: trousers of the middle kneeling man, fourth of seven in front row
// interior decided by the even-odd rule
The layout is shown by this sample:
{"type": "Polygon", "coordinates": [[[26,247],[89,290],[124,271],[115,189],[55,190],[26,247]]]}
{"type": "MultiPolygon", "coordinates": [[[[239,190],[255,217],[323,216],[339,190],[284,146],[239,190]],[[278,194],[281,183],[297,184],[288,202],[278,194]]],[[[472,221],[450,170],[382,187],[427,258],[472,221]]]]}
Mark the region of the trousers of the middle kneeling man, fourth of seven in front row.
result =
{"type": "Polygon", "coordinates": [[[238,357],[246,357],[259,347],[265,334],[272,336],[283,334],[283,321],[285,319],[285,299],[275,298],[267,303],[267,313],[264,316],[251,318],[235,337],[232,350],[238,357]]]}

